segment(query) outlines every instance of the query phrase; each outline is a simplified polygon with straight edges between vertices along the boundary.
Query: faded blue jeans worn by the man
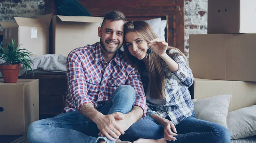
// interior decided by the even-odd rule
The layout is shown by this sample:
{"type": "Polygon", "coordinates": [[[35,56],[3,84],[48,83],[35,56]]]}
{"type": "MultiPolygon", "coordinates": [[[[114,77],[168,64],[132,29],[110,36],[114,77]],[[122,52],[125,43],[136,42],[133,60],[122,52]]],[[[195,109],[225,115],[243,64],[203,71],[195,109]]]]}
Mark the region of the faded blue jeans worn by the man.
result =
{"type": "MultiPolygon", "coordinates": [[[[114,112],[126,114],[131,111],[135,99],[134,88],[122,85],[99,111],[104,115],[114,112]]],[[[98,133],[96,123],[74,111],[31,123],[27,136],[30,143],[95,143],[97,137],[104,138],[108,143],[115,142],[99,137],[98,133]]]]}

